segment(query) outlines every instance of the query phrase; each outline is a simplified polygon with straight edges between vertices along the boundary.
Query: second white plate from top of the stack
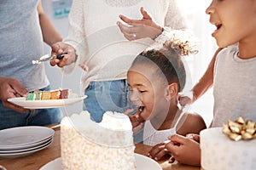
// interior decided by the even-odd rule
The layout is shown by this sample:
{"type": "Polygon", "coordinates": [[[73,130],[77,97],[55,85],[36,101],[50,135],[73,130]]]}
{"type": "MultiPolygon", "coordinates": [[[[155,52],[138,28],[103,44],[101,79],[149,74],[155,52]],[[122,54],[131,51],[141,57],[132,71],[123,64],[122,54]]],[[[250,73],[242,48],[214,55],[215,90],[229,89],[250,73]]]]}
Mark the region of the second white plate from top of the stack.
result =
{"type": "Polygon", "coordinates": [[[52,144],[53,140],[51,140],[49,143],[43,144],[41,147],[35,150],[28,150],[24,152],[18,152],[18,153],[7,153],[7,154],[0,154],[0,157],[4,158],[15,158],[15,157],[20,157],[20,156],[29,156],[34,152],[37,152],[39,150],[44,150],[47,148],[50,144],[52,144]]]}

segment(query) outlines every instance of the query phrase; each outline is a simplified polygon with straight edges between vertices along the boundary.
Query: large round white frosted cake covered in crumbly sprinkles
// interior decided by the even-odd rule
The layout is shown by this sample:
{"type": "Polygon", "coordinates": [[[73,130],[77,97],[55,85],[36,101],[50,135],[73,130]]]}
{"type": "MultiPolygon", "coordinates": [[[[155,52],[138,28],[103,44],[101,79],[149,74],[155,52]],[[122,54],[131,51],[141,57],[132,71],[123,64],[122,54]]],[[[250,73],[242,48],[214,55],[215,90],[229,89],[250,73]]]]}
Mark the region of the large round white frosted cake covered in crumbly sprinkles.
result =
{"type": "Polygon", "coordinates": [[[106,112],[102,122],[90,113],[66,116],[61,121],[62,169],[136,169],[132,127],[128,116],[106,112]]]}

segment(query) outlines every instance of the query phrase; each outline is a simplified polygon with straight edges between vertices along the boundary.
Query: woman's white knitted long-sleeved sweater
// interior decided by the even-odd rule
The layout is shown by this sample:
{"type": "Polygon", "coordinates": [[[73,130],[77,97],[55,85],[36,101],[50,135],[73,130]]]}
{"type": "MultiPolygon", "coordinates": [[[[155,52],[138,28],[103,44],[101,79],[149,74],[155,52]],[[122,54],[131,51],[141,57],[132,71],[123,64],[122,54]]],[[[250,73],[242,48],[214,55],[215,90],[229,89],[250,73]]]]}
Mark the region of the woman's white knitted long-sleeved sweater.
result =
{"type": "Polygon", "coordinates": [[[76,49],[76,64],[64,67],[70,72],[86,60],[89,71],[84,74],[84,89],[91,81],[113,81],[126,78],[126,72],[137,54],[148,48],[150,38],[128,41],[119,30],[119,14],[141,20],[140,8],[152,14],[160,26],[186,29],[176,0],[73,0],[69,14],[68,36],[64,40],[76,49]]]}

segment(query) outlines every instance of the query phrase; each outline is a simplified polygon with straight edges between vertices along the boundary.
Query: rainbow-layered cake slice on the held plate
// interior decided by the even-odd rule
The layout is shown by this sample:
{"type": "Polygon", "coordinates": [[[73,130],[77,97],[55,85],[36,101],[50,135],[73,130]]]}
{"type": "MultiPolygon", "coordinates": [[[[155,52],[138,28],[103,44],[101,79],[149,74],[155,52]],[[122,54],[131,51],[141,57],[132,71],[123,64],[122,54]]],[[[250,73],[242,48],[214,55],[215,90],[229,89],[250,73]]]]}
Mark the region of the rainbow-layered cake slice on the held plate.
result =
{"type": "Polygon", "coordinates": [[[67,99],[69,89],[53,91],[35,91],[26,95],[26,100],[47,100],[47,99],[67,99]]]}

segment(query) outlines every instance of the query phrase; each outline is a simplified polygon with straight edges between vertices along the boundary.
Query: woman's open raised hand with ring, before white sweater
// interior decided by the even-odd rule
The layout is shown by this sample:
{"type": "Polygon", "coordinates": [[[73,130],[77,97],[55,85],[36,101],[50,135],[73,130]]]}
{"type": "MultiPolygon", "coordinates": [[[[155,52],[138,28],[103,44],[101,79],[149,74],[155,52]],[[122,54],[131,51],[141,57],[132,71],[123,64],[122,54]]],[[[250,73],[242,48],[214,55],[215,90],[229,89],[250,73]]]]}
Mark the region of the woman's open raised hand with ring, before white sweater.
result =
{"type": "Polygon", "coordinates": [[[143,14],[142,20],[131,20],[124,15],[119,15],[119,18],[127,24],[124,25],[119,21],[117,22],[120,31],[124,34],[126,39],[130,41],[144,37],[154,39],[161,34],[162,27],[154,22],[143,7],[141,8],[141,14],[143,14]]]}

